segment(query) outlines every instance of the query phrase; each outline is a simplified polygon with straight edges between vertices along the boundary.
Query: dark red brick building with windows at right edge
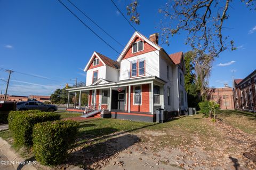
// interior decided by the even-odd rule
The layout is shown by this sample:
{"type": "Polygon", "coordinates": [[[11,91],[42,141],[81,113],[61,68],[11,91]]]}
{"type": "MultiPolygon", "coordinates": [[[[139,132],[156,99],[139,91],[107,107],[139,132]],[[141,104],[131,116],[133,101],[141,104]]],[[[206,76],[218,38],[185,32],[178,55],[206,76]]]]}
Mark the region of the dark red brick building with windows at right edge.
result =
{"type": "Polygon", "coordinates": [[[256,70],[244,79],[234,80],[235,109],[256,112],[256,70]]]}

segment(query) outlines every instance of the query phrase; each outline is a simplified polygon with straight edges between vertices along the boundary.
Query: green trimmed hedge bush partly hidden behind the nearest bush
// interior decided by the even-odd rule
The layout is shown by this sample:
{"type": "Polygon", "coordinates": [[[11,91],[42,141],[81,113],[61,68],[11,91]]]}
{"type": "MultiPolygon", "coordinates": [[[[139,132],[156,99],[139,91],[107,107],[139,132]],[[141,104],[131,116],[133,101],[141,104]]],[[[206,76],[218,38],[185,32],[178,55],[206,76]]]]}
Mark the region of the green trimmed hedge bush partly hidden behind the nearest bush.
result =
{"type": "Polygon", "coordinates": [[[14,144],[30,147],[33,144],[33,126],[37,123],[54,120],[60,120],[60,115],[34,110],[11,112],[9,115],[9,129],[12,132],[14,144]]]}

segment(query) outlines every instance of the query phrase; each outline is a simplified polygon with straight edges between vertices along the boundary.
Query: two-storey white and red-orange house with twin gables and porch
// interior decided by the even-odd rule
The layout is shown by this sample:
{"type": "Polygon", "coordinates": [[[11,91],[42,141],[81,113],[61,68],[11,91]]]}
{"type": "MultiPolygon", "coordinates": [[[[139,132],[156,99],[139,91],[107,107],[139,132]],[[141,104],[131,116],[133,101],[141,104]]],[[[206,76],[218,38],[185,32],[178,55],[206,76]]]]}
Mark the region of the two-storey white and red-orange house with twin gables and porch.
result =
{"type": "Polygon", "coordinates": [[[117,61],[94,52],[84,71],[86,86],[67,91],[88,93],[88,105],[105,108],[113,118],[153,122],[158,108],[187,110],[183,53],[167,54],[158,34],[148,39],[136,31],[117,61]]]}

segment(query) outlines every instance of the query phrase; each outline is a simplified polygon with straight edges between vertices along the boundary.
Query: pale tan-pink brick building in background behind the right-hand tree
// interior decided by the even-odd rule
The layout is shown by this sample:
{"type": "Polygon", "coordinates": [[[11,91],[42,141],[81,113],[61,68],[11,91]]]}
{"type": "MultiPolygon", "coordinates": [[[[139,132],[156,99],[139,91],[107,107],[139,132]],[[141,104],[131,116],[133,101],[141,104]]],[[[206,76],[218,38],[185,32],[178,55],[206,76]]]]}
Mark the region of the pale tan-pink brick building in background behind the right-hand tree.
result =
{"type": "Polygon", "coordinates": [[[228,87],[225,85],[225,87],[221,88],[211,88],[209,90],[209,98],[212,101],[217,102],[220,104],[221,110],[234,110],[234,96],[233,96],[233,88],[228,87]]]}

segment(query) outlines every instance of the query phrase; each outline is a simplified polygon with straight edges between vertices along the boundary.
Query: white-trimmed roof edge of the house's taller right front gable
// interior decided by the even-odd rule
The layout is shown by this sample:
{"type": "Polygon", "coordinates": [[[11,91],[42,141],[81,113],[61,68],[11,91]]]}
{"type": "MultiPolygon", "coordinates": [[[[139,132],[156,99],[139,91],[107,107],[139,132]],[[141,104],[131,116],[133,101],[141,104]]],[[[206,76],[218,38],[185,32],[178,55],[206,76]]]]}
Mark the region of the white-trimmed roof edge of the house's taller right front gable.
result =
{"type": "MultiPolygon", "coordinates": [[[[138,36],[140,38],[142,38],[145,42],[147,42],[149,45],[153,46],[154,48],[156,48],[156,50],[161,50],[161,46],[155,44],[154,42],[151,42],[147,37],[143,36],[142,34],[140,34],[138,31],[135,31],[132,35],[132,37],[130,38],[129,42],[126,44],[126,46],[124,47],[124,50],[122,51],[121,55],[118,56],[117,61],[121,62],[123,56],[125,55],[125,53],[129,50],[130,46],[132,45],[132,41],[133,39],[138,36]]],[[[134,55],[135,56],[135,55],[134,55]]]]}

